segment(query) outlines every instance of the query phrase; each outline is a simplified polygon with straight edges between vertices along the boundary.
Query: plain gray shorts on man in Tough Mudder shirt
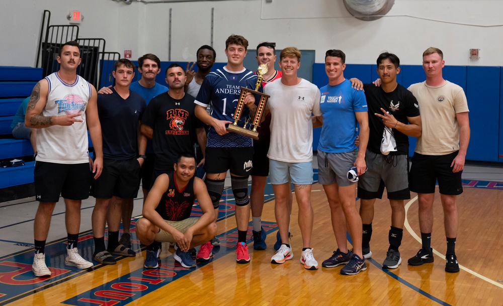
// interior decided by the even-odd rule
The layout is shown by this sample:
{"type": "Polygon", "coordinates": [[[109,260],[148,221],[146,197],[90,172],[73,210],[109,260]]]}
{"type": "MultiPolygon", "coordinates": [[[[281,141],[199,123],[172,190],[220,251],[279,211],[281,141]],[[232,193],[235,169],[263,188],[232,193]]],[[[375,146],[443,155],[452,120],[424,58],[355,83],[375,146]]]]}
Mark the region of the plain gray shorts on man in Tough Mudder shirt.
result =
{"type": "Polygon", "coordinates": [[[318,150],[318,183],[339,186],[350,186],[355,182],[348,179],[347,173],[354,166],[358,149],[346,153],[325,153],[318,150]]]}

